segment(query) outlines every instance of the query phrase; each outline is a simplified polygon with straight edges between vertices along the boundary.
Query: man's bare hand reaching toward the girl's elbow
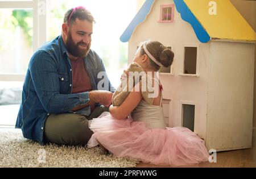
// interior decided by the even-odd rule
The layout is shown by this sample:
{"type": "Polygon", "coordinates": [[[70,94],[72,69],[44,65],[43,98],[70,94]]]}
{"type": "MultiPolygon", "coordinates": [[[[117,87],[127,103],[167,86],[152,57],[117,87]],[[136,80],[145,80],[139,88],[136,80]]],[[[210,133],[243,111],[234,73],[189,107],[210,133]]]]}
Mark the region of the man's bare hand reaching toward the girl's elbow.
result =
{"type": "Polygon", "coordinates": [[[109,107],[112,104],[112,96],[113,93],[110,91],[95,90],[89,92],[90,101],[101,103],[101,105],[104,105],[105,107],[109,107]]]}

